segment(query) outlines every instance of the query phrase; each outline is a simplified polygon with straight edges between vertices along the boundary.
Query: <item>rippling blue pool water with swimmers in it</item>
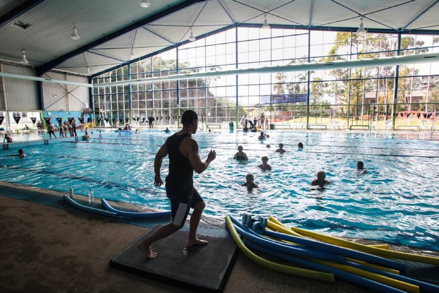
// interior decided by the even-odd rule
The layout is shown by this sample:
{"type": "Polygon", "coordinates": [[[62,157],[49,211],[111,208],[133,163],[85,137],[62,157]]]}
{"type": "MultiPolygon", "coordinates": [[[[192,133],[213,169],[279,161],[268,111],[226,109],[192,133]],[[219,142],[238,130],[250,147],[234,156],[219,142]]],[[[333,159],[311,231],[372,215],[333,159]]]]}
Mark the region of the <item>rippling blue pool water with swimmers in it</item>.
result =
{"type": "MultiPolygon", "coordinates": [[[[198,132],[200,156],[210,149],[217,159],[194,184],[206,202],[205,215],[223,218],[244,212],[274,215],[284,223],[335,236],[376,239],[439,250],[439,142],[400,135],[338,132],[198,132]],[[304,149],[299,151],[297,143],[304,149]],[[283,143],[284,154],[275,152],[283,143]],[[271,147],[266,147],[270,144],[271,147]],[[233,160],[242,145],[248,162],[233,160]],[[272,171],[258,168],[268,156],[272,171]],[[356,173],[363,161],[366,174],[356,173]],[[323,190],[310,186],[318,170],[331,181],[323,190]],[[253,173],[258,189],[240,185],[253,173]]],[[[3,181],[170,209],[164,187],[154,187],[154,156],[167,134],[105,133],[90,142],[29,146],[27,158],[0,158],[3,181]]],[[[163,160],[162,180],[168,172],[163,160]]]]}

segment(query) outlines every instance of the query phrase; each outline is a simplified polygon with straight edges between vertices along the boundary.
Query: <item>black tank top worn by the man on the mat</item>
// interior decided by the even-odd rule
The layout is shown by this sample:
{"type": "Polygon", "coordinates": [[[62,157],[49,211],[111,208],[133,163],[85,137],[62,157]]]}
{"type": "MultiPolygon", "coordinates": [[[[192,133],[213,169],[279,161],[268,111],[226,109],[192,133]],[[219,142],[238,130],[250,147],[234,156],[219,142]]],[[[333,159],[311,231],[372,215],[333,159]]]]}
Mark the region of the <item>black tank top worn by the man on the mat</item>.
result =
{"type": "Polygon", "coordinates": [[[170,136],[166,143],[166,150],[169,155],[169,174],[166,177],[166,181],[173,183],[187,182],[192,183],[192,176],[194,174],[194,168],[192,167],[189,159],[180,153],[181,141],[191,136],[189,133],[170,136]]]}

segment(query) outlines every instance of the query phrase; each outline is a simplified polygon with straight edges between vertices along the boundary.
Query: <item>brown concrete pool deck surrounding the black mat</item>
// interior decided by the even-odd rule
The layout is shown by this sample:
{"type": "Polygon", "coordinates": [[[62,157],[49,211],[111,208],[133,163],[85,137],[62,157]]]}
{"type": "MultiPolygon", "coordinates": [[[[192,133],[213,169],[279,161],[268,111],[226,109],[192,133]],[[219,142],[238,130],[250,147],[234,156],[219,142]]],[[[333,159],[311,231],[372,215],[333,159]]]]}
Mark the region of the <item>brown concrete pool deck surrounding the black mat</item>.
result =
{"type": "MultiPolygon", "coordinates": [[[[3,293],[188,292],[110,268],[110,259],[147,231],[144,227],[4,196],[0,225],[3,293]]],[[[341,280],[325,283],[274,272],[239,253],[224,292],[371,291],[341,280]]]]}

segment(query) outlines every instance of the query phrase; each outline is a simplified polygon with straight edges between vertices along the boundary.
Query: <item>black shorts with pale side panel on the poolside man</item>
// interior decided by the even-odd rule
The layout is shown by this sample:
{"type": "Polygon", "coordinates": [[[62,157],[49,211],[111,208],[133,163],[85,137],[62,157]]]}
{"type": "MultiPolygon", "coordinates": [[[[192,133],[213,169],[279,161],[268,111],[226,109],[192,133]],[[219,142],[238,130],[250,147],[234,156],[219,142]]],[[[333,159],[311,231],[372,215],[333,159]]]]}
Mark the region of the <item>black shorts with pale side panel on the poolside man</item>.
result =
{"type": "Polygon", "coordinates": [[[175,190],[174,188],[166,188],[166,194],[171,201],[172,224],[182,226],[189,214],[189,209],[195,208],[203,199],[195,188],[189,192],[187,200],[183,200],[180,194],[172,194],[171,189],[175,190]]]}

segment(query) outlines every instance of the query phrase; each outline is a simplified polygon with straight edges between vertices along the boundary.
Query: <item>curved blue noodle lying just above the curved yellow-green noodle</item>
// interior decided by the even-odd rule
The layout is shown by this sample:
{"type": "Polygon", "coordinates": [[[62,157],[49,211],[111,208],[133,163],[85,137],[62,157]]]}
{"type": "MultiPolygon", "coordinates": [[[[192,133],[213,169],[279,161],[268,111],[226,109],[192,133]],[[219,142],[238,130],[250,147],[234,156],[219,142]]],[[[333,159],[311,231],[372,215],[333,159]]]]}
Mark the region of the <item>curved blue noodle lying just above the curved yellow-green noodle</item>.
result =
{"type": "Polygon", "coordinates": [[[256,234],[251,229],[242,226],[242,224],[239,223],[239,221],[236,218],[230,217],[230,219],[232,220],[232,222],[234,224],[236,224],[236,226],[238,226],[238,228],[240,230],[246,231],[246,237],[253,239],[252,241],[258,243],[258,245],[268,247],[268,248],[271,248],[273,250],[285,252],[285,253],[291,253],[291,254],[294,254],[294,255],[300,256],[300,257],[311,257],[311,258],[315,258],[315,259],[319,259],[319,260],[326,260],[326,261],[335,262],[335,263],[339,263],[339,264],[346,263],[346,259],[344,258],[344,256],[341,256],[341,255],[328,254],[328,253],[319,252],[319,251],[310,251],[310,250],[307,250],[306,248],[299,248],[299,247],[294,247],[294,246],[290,246],[290,245],[286,245],[286,244],[280,244],[280,243],[277,243],[276,241],[266,239],[265,237],[261,237],[260,235],[256,234]]]}

